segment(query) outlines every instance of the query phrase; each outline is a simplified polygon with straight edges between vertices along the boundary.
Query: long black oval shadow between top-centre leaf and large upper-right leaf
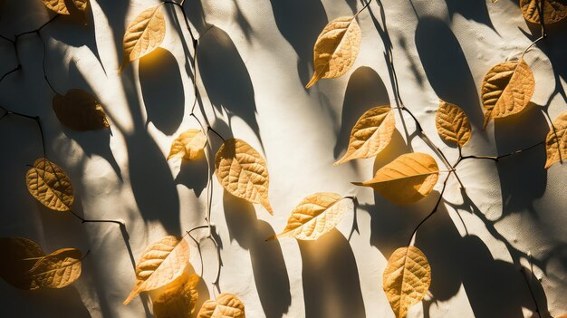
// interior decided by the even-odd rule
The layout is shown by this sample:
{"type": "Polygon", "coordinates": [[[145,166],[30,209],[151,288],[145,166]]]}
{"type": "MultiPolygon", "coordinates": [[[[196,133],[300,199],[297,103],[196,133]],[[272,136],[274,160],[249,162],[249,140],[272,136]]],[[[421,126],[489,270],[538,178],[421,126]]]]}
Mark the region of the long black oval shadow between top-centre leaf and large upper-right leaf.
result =
{"type": "Polygon", "coordinates": [[[437,96],[462,108],[471,123],[480,128],[484,116],[479,107],[475,79],[465,53],[448,25],[437,18],[420,18],[416,46],[428,81],[437,96]]]}

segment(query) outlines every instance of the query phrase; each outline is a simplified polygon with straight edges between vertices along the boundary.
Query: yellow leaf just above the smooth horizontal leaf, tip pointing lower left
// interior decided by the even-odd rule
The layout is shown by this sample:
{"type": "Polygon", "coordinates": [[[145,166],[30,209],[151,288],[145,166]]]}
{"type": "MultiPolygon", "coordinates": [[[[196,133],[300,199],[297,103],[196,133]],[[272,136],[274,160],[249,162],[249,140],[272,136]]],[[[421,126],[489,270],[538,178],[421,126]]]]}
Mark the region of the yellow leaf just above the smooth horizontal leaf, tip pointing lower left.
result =
{"type": "Polygon", "coordinates": [[[396,130],[396,118],[389,106],[370,109],[360,116],[351,131],[347,153],[335,166],[351,159],[365,159],[378,155],[388,146],[396,130]]]}

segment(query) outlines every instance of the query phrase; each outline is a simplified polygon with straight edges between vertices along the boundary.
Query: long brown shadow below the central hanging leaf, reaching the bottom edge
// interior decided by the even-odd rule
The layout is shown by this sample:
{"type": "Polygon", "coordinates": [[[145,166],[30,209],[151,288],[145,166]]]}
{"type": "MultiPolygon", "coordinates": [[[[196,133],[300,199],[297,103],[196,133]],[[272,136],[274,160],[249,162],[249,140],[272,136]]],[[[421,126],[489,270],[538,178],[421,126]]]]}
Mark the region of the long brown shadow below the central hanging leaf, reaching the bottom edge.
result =
{"type": "MultiPolygon", "coordinates": [[[[292,295],[280,242],[265,242],[266,238],[275,234],[274,229],[256,218],[252,204],[235,198],[226,191],[223,194],[223,205],[231,240],[236,240],[250,252],[256,290],[265,316],[282,317],[292,304],[292,295]]],[[[262,208],[259,212],[265,213],[262,208]]]]}

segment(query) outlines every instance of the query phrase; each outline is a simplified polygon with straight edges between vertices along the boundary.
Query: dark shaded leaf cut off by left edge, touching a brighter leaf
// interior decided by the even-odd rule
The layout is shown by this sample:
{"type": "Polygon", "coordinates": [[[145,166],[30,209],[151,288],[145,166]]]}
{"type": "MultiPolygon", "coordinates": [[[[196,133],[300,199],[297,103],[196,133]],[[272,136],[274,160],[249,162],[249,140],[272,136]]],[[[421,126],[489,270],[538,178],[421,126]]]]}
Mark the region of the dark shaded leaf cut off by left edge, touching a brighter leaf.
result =
{"type": "Polygon", "coordinates": [[[0,277],[14,287],[29,289],[24,274],[43,257],[42,247],[24,237],[0,237],[0,253],[0,277]]]}

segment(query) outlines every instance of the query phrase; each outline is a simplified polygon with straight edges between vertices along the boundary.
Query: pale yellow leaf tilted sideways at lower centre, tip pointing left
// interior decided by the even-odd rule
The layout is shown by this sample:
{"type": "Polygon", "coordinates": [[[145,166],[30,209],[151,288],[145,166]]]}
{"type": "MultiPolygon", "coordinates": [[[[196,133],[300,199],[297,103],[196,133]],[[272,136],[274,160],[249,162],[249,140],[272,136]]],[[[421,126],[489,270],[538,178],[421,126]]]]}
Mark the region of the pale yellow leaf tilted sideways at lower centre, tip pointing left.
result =
{"type": "MultiPolygon", "coordinates": [[[[352,201],[349,200],[351,203],[352,201]]],[[[343,201],[336,193],[315,193],[293,208],[292,215],[287,219],[287,226],[277,236],[295,237],[302,240],[315,240],[329,232],[341,222],[341,218],[351,204],[343,201]]]]}

